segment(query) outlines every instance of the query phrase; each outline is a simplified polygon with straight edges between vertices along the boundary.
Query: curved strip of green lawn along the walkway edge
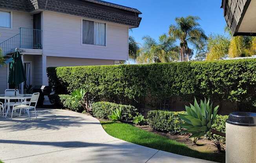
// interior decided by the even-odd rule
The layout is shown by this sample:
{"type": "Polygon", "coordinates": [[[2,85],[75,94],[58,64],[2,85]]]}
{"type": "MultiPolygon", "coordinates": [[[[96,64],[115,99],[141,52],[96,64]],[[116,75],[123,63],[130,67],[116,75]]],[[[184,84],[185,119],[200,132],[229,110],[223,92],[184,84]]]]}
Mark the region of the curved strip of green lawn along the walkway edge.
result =
{"type": "Polygon", "coordinates": [[[223,155],[198,152],[188,148],[187,145],[183,143],[179,143],[164,136],[139,129],[126,123],[101,121],[101,124],[109,135],[124,141],[184,156],[206,159],[221,163],[225,162],[223,155]]]}

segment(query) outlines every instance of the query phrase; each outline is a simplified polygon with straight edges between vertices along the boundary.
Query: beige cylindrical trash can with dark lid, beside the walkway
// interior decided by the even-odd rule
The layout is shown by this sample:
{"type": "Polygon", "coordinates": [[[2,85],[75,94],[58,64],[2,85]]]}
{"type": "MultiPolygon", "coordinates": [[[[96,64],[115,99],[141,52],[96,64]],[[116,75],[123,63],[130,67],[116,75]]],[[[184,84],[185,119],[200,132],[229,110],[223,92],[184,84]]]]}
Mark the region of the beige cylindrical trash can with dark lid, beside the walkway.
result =
{"type": "Polygon", "coordinates": [[[226,122],[226,163],[256,163],[256,113],[229,114],[226,122]]]}

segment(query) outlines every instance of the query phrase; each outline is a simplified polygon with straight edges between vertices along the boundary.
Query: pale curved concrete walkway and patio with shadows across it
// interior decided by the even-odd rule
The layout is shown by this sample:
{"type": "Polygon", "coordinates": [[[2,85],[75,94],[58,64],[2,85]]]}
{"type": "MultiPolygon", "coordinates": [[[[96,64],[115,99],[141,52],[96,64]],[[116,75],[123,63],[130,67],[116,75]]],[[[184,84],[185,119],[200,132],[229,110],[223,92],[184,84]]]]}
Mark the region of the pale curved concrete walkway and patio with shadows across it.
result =
{"type": "Polygon", "coordinates": [[[212,163],[113,138],[97,119],[77,112],[39,110],[37,120],[26,118],[0,118],[5,163],[212,163]]]}

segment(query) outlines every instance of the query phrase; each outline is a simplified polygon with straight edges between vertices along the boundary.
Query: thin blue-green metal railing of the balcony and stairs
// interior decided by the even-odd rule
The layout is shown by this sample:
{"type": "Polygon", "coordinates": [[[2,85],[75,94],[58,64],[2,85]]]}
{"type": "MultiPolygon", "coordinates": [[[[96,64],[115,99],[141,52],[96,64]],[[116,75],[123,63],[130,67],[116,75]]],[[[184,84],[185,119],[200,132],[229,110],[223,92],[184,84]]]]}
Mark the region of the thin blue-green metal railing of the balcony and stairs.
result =
{"type": "Polygon", "coordinates": [[[4,55],[13,53],[15,48],[42,49],[42,30],[20,28],[20,33],[0,43],[4,55]]]}

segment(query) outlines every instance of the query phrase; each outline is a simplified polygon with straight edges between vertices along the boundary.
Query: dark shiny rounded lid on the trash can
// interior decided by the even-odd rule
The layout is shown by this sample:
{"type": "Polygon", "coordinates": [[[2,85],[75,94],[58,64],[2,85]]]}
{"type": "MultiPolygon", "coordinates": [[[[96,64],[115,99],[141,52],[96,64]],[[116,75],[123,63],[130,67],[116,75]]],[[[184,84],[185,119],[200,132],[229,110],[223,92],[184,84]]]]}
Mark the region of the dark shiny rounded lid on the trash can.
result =
{"type": "Polygon", "coordinates": [[[227,123],[238,126],[256,126],[256,113],[232,112],[229,114],[227,123]]]}

